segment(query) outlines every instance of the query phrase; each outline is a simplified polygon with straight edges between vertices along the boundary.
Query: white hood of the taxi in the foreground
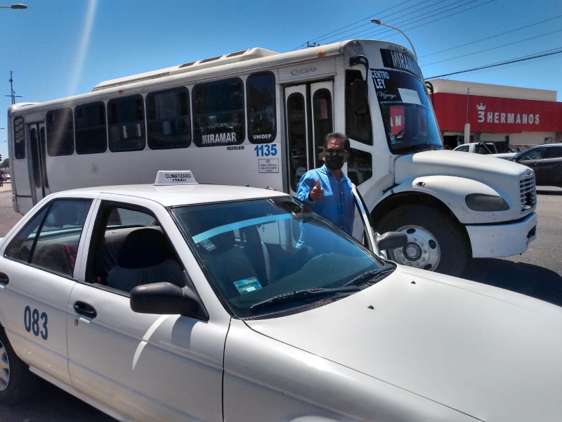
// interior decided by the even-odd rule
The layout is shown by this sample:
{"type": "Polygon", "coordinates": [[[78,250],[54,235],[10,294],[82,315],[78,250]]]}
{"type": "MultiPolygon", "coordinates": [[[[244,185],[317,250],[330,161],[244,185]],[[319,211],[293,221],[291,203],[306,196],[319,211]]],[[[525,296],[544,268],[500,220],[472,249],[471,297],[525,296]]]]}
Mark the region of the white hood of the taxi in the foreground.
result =
{"type": "Polygon", "coordinates": [[[562,309],[410,267],[254,331],[484,421],[562,415],[562,309]]]}

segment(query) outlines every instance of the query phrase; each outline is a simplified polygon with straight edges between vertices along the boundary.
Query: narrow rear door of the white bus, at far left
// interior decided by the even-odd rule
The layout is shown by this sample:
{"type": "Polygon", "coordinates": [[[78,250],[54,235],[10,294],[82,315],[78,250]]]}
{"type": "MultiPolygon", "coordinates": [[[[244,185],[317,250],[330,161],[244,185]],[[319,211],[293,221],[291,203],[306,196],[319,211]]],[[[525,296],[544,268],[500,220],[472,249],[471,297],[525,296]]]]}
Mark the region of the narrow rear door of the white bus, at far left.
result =
{"type": "Polygon", "coordinates": [[[29,124],[30,133],[30,185],[33,203],[50,193],[46,170],[45,122],[29,124]]]}

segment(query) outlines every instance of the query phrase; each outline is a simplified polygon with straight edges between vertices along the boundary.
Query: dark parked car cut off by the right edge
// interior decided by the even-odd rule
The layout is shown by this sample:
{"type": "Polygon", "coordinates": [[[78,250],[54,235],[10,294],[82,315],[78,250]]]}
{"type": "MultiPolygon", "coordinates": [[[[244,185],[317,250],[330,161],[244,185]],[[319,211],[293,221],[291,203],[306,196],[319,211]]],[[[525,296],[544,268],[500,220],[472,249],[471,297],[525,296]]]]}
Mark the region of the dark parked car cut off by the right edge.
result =
{"type": "Polygon", "coordinates": [[[532,146],[511,160],[535,170],[537,186],[562,187],[562,143],[532,146]]]}

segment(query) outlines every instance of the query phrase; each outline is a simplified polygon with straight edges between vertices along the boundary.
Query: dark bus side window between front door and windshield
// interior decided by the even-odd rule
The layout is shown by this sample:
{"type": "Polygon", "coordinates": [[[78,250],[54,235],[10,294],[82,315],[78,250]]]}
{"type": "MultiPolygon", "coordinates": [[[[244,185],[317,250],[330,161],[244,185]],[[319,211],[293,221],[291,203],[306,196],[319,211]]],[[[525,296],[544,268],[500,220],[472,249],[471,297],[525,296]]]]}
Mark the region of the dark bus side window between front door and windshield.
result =
{"type": "Polygon", "coordinates": [[[346,134],[355,141],[373,144],[367,82],[359,70],[346,71],[346,134]]]}

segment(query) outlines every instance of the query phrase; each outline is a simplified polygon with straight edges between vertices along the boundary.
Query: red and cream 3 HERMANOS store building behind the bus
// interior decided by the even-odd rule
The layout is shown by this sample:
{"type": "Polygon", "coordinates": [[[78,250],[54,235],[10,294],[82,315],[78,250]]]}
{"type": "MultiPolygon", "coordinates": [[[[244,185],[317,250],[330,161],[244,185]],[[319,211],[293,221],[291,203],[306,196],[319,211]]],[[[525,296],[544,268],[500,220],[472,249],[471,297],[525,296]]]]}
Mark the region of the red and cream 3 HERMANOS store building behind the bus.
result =
{"type": "Polygon", "coordinates": [[[503,141],[527,148],[562,142],[562,103],[556,91],[433,79],[433,107],[445,145],[503,141]]]}

